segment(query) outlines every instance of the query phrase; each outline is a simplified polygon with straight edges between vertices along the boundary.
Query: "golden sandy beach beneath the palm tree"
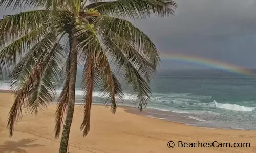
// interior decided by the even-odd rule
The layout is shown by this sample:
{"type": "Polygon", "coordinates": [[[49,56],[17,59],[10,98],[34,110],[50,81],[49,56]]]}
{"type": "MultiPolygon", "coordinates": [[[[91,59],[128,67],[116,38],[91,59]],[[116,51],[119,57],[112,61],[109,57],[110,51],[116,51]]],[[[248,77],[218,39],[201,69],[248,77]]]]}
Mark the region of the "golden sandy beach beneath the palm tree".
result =
{"type": "MultiPolygon", "coordinates": [[[[58,152],[59,140],[54,139],[55,105],[40,111],[38,116],[25,115],[9,138],[7,115],[13,103],[13,96],[0,93],[0,152],[58,152]]],[[[104,106],[92,107],[91,131],[82,137],[79,130],[82,121],[82,107],[76,106],[70,134],[70,152],[125,153],[125,152],[256,152],[256,132],[243,130],[218,130],[191,127],[154,118],[130,114],[118,108],[112,114],[104,106]],[[174,141],[176,146],[168,148],[167,142],[174,141]],[[247,148],[179,148],[178,141],[210,143],[249,142],[247,148]]]]}

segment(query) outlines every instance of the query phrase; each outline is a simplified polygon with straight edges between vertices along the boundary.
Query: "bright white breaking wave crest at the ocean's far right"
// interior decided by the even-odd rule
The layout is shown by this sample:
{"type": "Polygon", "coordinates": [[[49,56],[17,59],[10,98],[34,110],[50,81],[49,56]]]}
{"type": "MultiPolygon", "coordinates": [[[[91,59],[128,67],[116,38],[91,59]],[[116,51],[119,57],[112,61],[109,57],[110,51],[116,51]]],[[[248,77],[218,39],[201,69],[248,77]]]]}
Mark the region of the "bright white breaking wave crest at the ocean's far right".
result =
{"type": "Polygon", "coordinates": [[[237,104],[228,104],[228,103],[222,104],[222,103],[218,103],[215,100],[213,103],[218,108],[228,109],[228,110],[233,110],[233,111],[252,111],[255,109],[255,107],[247,107],[247,106],[241,106],[241,105],[237,105],[237,104]]]}

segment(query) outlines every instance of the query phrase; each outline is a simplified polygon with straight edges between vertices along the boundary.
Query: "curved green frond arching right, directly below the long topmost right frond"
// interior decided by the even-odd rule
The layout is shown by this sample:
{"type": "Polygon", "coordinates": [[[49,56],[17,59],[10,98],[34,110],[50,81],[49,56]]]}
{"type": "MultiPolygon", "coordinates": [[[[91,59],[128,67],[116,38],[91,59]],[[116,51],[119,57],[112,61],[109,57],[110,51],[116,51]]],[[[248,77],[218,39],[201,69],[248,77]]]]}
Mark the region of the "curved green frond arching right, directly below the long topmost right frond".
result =
{"type": "Polygon", "coordinates": [[[160,55],[156,46],[146,34],[131,22],[110,16],[100,16],[95,24],[106,37],[113,39],[119,37],[130,43],[143,58],[152,64],[154,69],[157,68],[160,55]]]}

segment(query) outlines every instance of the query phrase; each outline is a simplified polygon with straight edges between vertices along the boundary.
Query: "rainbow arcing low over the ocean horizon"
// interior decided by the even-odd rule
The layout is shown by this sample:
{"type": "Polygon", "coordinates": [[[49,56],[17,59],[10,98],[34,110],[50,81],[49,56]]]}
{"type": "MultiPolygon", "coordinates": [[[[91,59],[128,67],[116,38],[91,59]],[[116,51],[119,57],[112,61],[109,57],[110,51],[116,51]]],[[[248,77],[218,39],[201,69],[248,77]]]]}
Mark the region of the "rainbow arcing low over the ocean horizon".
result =
{"type": "Polygon", "coordinates": [[[202,58],[198,56],[175,53],[175,52],[171,52],[171,53],[160,52],[160,57],[161,59],[167,58],[167,59],[172,59],[177,61],[196,63],[196,64],[208,66],[211,68],[226,70],[232,73],[239,73],[239,74],[249,75],[251,77],[256,77],[256,75],[253,74],[248,69],[245,69],[236,65],[232,65],[229,63],[225,63],[222,61],[218,61],[218,60],[207,59],[207,58],[202,58]]]}

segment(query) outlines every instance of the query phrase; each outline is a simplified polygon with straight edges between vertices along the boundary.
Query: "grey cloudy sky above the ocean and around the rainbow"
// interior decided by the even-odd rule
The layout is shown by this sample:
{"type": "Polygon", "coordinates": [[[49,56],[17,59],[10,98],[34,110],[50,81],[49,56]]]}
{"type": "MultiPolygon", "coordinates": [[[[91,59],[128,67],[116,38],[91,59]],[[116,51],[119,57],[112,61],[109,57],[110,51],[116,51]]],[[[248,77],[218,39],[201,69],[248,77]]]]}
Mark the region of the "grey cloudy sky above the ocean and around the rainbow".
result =
{"type": "MultiPolygon", "coordinates": [[[[256,0],[176,0],[171,18],[135,21],[161,53],[178,52],[256,68],[256,0]]],[[[10,10],[0,10],[3,14],[10,10]]],[[[207,68],[162,59],[161,69],[207,68]]]]}

